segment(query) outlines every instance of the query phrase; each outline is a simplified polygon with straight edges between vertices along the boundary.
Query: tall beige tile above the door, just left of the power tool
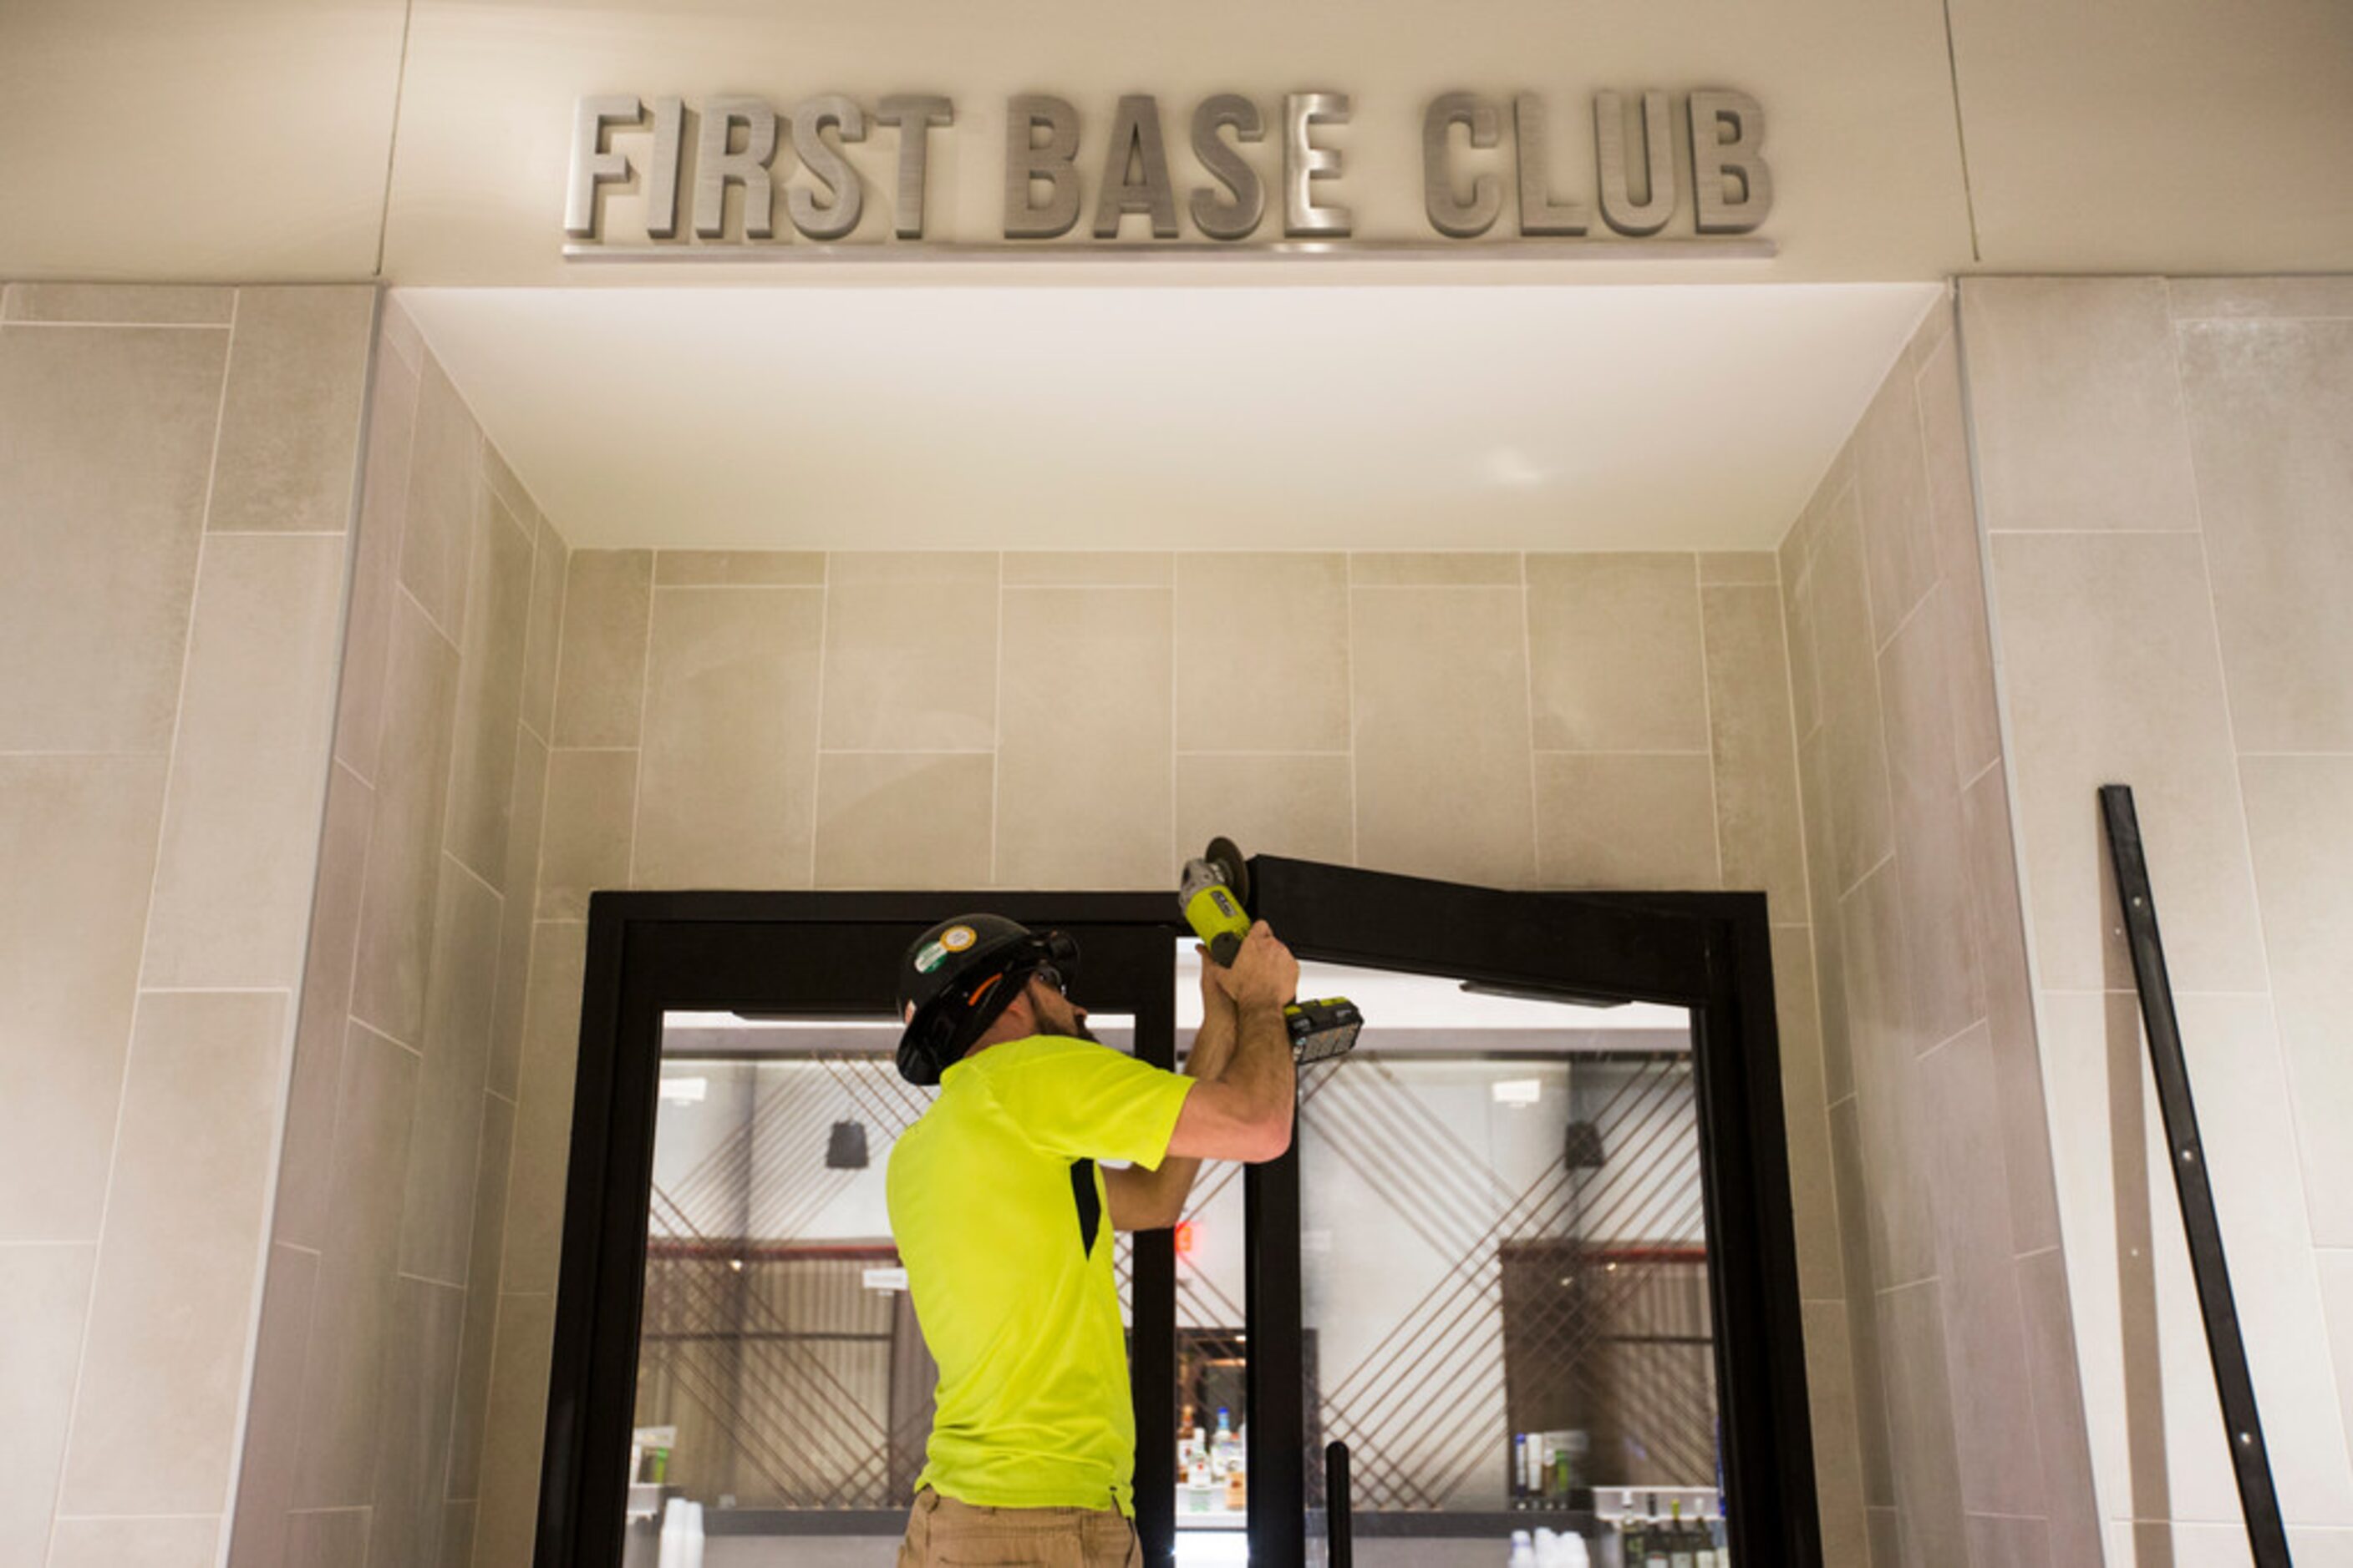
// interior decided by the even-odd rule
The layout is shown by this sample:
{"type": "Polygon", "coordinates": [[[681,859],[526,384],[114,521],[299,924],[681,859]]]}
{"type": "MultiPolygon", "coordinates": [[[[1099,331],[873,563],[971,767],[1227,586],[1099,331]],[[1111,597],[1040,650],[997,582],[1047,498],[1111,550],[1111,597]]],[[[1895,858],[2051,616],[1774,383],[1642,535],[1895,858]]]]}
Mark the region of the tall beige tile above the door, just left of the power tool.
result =
{"type": "Polygon", "coordinates": [[[1162,886],[1172,844],[1167,588],[1007,588],[1000,886],[1162,886]]]}

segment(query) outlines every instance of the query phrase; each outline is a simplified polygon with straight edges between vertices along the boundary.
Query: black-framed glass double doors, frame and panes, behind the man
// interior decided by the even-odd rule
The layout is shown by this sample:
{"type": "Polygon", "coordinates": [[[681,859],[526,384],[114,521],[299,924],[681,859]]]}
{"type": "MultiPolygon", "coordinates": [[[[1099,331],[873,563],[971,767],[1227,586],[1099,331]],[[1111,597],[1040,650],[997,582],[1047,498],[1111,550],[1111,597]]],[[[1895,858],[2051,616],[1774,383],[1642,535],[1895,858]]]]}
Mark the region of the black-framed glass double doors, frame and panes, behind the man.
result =
{"type": "MultiPolygon", "coordinates": [[[[1282,1159],[1120,1237],[1146,1561],[1320,1561],[1344,1441],[1367,1563],[1652,1497],[1817,1563],[1762,898],[1275,858],[1254,886],[1367,1027],[1301,1074],[1282,1159]]],[[[659,1561],[673,1500],[706,1561],[892,1561],[934,1378],[882,1204],[929,1098],[889,1065],[892,976],[955,907],[1078,936],[1106,1044],[1176,1063],[1167,896],[591,903],[539,1568],[659,1561]]]]}

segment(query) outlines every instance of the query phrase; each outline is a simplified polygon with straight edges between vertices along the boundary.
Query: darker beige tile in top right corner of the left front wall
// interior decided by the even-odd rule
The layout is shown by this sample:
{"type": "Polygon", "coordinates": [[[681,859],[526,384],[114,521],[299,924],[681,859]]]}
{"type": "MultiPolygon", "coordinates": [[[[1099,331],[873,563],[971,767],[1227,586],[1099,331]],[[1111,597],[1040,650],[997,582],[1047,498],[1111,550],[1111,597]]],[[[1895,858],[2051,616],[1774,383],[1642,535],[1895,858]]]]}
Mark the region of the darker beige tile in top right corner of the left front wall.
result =
{"type": "Polygon", "coordinates": [[[240,289],[212,529],[351,527],[372,287],[240,289]]]}

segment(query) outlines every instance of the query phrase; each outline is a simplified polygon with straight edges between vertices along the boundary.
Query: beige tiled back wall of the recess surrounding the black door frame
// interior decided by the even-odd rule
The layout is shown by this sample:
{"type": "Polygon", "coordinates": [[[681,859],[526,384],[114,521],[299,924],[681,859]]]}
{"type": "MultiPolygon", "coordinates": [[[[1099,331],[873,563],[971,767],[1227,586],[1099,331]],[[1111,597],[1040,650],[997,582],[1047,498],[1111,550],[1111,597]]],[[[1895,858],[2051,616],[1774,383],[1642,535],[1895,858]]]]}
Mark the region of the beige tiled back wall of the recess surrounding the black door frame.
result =
{"type": "Polygon", "coordinates": [[[1821,1493],[1833,1552],[1859,1542],[1784,649],[1772,555],[574,552],[478,1568],[532,1540],[588,893],[1162,889],[1212,832],[1767,891],[1800,1272],[1833,1307],[1821,1493]]]}

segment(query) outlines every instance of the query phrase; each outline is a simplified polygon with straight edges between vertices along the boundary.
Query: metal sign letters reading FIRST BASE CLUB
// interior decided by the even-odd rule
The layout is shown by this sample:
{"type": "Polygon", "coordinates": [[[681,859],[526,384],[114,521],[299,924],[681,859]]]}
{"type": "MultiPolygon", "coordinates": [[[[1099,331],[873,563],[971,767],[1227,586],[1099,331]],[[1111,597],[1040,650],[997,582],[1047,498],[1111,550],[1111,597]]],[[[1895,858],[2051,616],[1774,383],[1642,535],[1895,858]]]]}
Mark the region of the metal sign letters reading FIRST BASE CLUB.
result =
{"type": "MultiPolygon", "coordinates": [[[[1553,108],[1544,94],[1447,92],[1428,101],[1428,235],[1647,240],[1680,214],[1692,237],[1722,240],[1753,235],[1772,214],[1765,110],[1746,92],[1595,92],[1581,106],[1593,125],[1586,172],[1553,165],[1553,108]]],[[[953,242],[932,233],[927,197],[936,141],[955,125],[955,103],[922,92],[873,106],[816,94],[791,108],[751,96],[694,106],[680,96],[652,106],[631,94],[584,96],[572,122],[565,235],[572,254],[609,244],[605,193],[628,186],[642,195],[654,249],[744,249],[793,235],[838,244],[859,228],[868,200],[866,176],[842,148],[880,132],[894,139],[892,240],[953,242]]],[[[1355,240],[1344,92],[1271,101],[1221,92],[1174,113],[1153,94],[1127,94],[1099,129],[1068,99],[1016,94],[1002,125],[1002,223],[991,249],[1042,247],[1080,223],[1087,249],[1355,240]],[[1264,143],[1273,146],[1252,153],[1264,143]]]]}

